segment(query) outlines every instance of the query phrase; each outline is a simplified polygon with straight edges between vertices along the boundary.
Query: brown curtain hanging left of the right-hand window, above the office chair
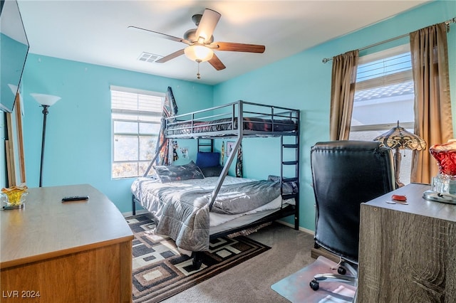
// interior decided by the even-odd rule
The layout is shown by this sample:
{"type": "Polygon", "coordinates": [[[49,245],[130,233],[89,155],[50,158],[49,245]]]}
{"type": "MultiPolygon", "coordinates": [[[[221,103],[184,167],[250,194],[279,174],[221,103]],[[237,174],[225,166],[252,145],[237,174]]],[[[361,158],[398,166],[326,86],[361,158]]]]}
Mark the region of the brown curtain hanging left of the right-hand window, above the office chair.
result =
{"type": "Polygon", "coordinates": [[[358,50],[351,50],[333,58],[329,114],[331,140],[347,140],[350,134],[358,55],[358,50]]]}

